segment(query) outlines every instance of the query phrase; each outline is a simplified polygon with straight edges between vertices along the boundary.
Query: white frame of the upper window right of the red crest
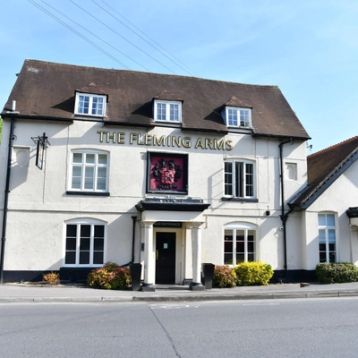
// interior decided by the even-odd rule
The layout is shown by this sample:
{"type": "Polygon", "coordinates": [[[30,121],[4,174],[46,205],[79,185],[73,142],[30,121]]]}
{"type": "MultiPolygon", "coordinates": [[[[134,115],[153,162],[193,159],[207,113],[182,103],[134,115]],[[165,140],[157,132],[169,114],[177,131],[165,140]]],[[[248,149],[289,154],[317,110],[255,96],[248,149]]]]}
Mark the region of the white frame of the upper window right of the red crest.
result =
{"type": "Polygon", "coordinates": [[[256,176],[254,161],[239,158],[226,159],[224,161],[224,196],[226,198],[256,199],[256,176]],[[231,171],[227,168],[230,164],[231,171]],[[230,188],[231,190],[229,190],[230,188]]]}

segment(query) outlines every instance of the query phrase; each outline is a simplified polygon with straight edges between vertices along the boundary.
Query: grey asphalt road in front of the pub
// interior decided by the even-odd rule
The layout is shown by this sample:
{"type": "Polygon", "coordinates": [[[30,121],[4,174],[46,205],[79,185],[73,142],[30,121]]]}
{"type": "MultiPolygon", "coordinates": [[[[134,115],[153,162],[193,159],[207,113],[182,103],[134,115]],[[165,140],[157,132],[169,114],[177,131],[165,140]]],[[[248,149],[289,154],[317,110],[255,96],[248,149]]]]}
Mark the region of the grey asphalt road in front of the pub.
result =
{"type": "Polygon", "coordinates": [[[3,303],[0,357],[357,357],[358,297],[3,303]]]}

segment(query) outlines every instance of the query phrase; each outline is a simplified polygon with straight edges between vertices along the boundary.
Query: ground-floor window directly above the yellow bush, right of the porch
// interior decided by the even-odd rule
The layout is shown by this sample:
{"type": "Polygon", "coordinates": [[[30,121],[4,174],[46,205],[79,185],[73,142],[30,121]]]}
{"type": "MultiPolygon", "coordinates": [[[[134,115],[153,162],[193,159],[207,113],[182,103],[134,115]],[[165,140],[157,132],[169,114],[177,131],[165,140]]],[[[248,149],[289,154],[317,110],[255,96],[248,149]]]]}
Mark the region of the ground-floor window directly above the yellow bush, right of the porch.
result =
{"type": "Polygon", "coordinates": [[[256,260],[256,230],[247,224],[224,229],[224,263],[236,266],[256,260]]]}

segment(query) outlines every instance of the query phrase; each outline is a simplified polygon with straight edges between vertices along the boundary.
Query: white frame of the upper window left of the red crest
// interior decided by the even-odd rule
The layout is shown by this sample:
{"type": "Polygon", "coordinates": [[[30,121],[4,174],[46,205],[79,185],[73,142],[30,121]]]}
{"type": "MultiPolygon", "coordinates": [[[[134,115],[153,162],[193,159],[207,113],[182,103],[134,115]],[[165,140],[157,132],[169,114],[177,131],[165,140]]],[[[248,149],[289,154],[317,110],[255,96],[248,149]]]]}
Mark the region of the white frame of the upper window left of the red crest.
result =
{"type": "Polygon", "coordinates": [[[108,175],[109,175],[109,153],[105,150],[92,149],[73,149],[71,151],[71,170],[70,170],[69,186],[71,192],[108,192],[108,175]],[[76,161],[75,157],[81,162],[76,161]],[[101,156],[107,157],[107,163],[100,160],[101,156]],[[87,162],[87,159],[93,157],[94,160],[87,162]],[[76,170],[75,170],[76,168],[76,170]],[[78,172],[81,173],[78,173],[78,172]],[[92,176],[90,176],[92,172],[92,176]],[[103,176],[106,173],[106,177],[103,176]],[[77,181],[75,179],[77,178],[77,181]],[[92,178],[92,185],[88,187],[92,178]],[[74,183],[76,183],[74,185],[74,183]],[[100,188],[104,185],[104,188],[100,188]]]}

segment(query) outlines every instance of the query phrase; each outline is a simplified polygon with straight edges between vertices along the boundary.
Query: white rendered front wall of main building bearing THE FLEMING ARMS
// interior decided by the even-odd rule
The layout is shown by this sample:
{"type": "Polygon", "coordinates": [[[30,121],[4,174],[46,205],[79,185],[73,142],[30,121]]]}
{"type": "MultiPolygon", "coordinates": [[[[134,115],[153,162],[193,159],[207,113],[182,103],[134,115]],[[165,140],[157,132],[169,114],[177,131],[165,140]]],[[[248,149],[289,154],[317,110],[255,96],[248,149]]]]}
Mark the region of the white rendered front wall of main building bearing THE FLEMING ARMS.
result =
{"type": "MultiPolygon", "coordinates": [[[[9,122],[4,121],[1,146],[2,167],[5,166],[8,149],[9,122]]],[[[156,127],[148,132],[141,128],[103,126],[94,122],[60,124],[42,121],[15,122],[15,148],[29,151],[28,165],[18,165],[13,156],[11,192],[9,195],[9,215],[4,269],[6,270],[45,270],[58,269],[64,259],[64,223],[79,217],[103,220],[107,223],[107,257],[124,264],[132,257],[132,216],[136,216],[135,205],[145,196],[158,196],[146,193],[147,153],[158,151],[188,154],[189,197],[200,198],[210,207],[202,214],[202,261],[223,263],[223,227],[232,222],[246,222],[256,225],[257,259],[266,261],[274,269],[283,268],[283,237],[279,231],[282,222],[279,183],[279,142],[271,139],[254,139],[250,134],[216,135],[212,133],[185,132],[181,129],[156,127]],[[98,132],[121,132],[123,144],[107,137],[100,141],[98,132]],[[31,137],[46,132],[50,146],[46,150],[43,170],[35,166],[36,145],[31,137]],[[165,135],[189,137],[191,148],[183,146],[153,146],[135,141],[131,133],[143,137],[165,135]],[[232,150],[195,148],[202,139],[231,141],[232,150]],[[110,196],[95,197],[68,195],[69,167],[72,149],[107,150],[110,158],[110,196]],[[256,192],[258,202],[223,201],[224,164],[226,158],[244,158],[256,163],[256,192]],[[270,215],[265,215],[266,210],[270,215]]],[[[117,134],[118,135],[118,134],[117,134]]],[[[16,151],[16,149],[14,149],[16,151]]],[[[297,166],[297,178],[286,183],[285,196],[288,200],[294,192],[305,185],[305,145],[292,142],[284,146],[285,160],[297,166]]],[[[4,183],[5,171],[0,174],[4,183]]],[[[0,193],[4,198],[4,191],[0,193]]],[[[166,193],[163,194],[167,196],[166,193]]],[[[175,194],[176,196],[180,196],[175,194]]],[[[184,196],[186,197],[186,196],[184,196]]],[[[149,212],[145,213],[150,216],[149,212]]],[[[188,213],[177,213],[176,220],[188,219],[188,213]]],[[[166,214],[163,214],[163,221],[166,214]]],[[[190,220],[190,219],[189,219],[190,220]]],[[[291,220],[291,218],[289,219],[291,220]]],[[[291,220],[296,231],[296,219],[291,220]]],[[[291,225],[290,221],[289,224],[291,225]]],[[[298,249],[300,238],[292,234],[289,249],[289,268],[300,268],[298,249]]],[[[140,257],[140,228],[136,225],[135,255],[140,257]]],[[[188,238],[186,238],[188,240],[188,238]]],[[[190,247],[188,247],[190,250],[190,247]]],[[[185,271],[191,264],[186,252],[185,271]]],[[[188,278],[188,277],[185,277],[188,278]]]]}

